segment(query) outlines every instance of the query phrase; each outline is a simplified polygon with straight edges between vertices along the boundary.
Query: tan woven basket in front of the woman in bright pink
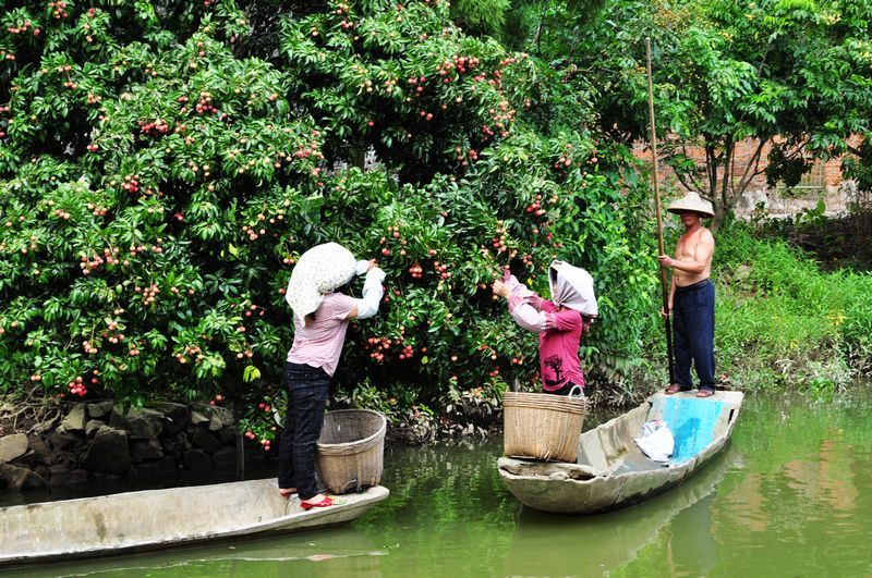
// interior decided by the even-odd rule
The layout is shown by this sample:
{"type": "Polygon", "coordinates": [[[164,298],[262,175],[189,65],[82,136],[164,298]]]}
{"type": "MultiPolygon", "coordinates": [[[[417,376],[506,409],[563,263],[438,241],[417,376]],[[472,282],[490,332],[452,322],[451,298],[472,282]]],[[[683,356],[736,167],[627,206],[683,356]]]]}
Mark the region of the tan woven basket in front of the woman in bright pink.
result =
{"type": "Polygon", "coordinates": [[[502,395],[504,452],[510,457],[574,463],[586,402],[547,393],[502,395]]]}

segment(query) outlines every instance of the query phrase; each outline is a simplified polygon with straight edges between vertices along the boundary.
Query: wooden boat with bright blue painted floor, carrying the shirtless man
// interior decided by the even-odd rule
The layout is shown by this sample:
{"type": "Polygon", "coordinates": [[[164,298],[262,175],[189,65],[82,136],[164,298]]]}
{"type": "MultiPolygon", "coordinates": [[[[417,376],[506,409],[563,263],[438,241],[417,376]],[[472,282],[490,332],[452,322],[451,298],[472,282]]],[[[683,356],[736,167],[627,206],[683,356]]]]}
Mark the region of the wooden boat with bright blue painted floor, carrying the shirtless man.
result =
{"type": "Polygon", "coordinates": [[[655,393],[639,407],[581,434],[576,464],[501,457],[497,468],[525,506],[558,514],[593,514],[626,507],[687,480],[729,441],[743,394],[655,393]],[[635,444],[645,421],[664,420],[675,438],[666,463],[635,444]]]}

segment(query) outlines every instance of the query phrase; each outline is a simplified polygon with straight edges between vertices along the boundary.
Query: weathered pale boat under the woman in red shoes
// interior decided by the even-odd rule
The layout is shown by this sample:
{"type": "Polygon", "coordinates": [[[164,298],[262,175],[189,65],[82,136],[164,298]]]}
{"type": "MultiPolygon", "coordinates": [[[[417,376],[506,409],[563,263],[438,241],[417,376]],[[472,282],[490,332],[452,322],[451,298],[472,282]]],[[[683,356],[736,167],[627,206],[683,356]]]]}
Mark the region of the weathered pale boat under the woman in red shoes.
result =
{"type": "Polygon", "coordinates": [[[313,530],[353,520],[389,494],[376,485],[306,512],[276,488],[250,480],[0,508],[0,566],[313,530]]]}

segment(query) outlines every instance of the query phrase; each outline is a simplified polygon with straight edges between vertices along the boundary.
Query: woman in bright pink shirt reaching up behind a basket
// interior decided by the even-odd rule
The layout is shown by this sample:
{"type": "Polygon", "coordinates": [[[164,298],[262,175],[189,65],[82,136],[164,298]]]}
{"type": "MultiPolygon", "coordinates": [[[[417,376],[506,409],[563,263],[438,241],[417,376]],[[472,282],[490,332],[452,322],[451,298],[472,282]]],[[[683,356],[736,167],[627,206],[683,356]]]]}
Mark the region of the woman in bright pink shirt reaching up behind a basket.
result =
{"type": "Polygon", "coordinates": [[[545,393],[567,395],[584,391],[579,360],[581,335],[597,316],[593,279],[584,269],[562,261],[548,268],[552,300],[545,300],[506,271],[494,282],[494,294],[508,299],[509,312],[522,328],[538,333],[540,372],[545,393]]]}

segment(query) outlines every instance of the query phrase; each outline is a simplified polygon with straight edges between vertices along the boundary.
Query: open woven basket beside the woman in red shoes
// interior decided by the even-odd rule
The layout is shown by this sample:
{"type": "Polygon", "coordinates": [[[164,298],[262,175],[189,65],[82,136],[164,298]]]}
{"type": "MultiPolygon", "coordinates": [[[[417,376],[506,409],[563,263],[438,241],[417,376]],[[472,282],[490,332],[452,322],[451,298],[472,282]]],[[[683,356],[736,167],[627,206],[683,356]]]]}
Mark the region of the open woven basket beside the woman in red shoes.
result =
{"type": "Polygon", "coordinates": [[[382,481],[387,419],[368,409],[339,409],[324,416],[315,467],[327,489],[341,494],[382,481]]]}

